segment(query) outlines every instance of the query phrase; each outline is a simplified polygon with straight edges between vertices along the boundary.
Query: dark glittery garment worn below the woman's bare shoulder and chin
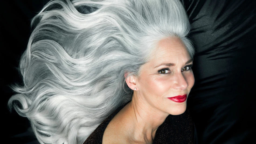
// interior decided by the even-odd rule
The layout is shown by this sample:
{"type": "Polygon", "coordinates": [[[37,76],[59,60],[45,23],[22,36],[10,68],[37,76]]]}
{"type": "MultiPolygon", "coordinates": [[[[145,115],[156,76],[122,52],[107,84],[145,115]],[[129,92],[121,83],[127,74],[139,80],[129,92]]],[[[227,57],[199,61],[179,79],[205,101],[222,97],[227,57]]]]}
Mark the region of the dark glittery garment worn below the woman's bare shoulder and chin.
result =
{"type": "MultiPolygon", "coordinates": [[[[126,105],[126,104],[125,104],[126,105]]],[[[83,144],[101,144],[103,133],[111,119],[125,106],[122,105],[116,109],[107,119],[105,119],[91,135],[85,140],[83,144]]],[[[185,111],[181,115],[169,115],[162,125],[156,131],[154,144],[157,143],[179,143],[179,144],[192,144],[196,143],[194,140],[196,135],[194,133],[194,125],[189,111],[185,111]]]]}

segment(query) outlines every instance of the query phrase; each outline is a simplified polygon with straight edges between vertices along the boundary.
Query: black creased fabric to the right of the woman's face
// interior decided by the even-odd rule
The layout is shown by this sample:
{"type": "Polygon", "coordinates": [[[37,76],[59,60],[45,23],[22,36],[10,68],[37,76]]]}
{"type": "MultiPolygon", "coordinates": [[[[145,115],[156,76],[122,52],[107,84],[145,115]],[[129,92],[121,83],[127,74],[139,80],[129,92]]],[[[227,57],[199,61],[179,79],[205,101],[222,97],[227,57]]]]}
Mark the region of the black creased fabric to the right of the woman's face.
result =
{"type": "Polygon", "coordinates": [[[199,143],[255,141],[256,1],[182,2],[196,50],[187,104],[199,143]]]}

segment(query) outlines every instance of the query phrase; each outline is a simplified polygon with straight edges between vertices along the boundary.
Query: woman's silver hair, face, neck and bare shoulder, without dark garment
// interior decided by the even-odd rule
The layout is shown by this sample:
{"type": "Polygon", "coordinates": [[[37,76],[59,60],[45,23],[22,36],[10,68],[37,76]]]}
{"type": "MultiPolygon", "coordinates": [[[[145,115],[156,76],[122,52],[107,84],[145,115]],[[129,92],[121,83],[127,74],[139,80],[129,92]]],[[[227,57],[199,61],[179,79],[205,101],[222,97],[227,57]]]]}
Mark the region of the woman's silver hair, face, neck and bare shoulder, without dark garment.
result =
{"type": "Polygon", "coordinates": [[[169,114],[186,110],[194,50],[178,0],[56,0],[36,22],[20,62],[24,86],[13,87],[9,106],[40,143],[95,133],[103,143],[152,143],[169,114]]]}

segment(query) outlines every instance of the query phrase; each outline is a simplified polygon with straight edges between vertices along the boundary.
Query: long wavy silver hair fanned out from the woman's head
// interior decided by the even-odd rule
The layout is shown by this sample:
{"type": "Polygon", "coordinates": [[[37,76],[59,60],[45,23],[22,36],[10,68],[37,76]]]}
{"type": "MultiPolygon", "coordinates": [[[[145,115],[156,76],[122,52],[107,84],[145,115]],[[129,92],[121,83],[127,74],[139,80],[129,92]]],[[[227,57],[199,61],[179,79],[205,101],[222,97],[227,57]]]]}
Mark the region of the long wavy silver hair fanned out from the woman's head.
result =
{"type": "Polygon", "coordinates": [[[54,0],[36,25],[20,61],[24,85],[8,105],[27,117],[40,143],[83,143],[131,100],[125,73],[139,75],[156,42],[187,39],[189,20],[178,0],[54,0]],[[95,8],[91,13],[78,9],[95,8]]]}

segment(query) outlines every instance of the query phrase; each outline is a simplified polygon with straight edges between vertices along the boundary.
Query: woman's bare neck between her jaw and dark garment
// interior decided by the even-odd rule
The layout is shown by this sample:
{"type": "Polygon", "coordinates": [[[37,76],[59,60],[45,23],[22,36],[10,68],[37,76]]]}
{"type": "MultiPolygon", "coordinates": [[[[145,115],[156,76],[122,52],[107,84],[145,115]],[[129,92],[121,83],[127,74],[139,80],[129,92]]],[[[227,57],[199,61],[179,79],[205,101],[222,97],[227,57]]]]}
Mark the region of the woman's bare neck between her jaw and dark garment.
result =
{"type": "Polygon", "coordinates": [[[134,125],[132,133],[130,133],[131,139],[143,143],[153,142],[156,130],[169,115],[152,107],[146,100],[142,100],[136,94],[133,95],[127,110],[134,125]]]}

